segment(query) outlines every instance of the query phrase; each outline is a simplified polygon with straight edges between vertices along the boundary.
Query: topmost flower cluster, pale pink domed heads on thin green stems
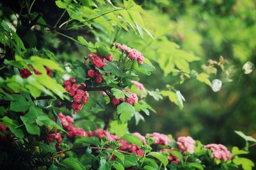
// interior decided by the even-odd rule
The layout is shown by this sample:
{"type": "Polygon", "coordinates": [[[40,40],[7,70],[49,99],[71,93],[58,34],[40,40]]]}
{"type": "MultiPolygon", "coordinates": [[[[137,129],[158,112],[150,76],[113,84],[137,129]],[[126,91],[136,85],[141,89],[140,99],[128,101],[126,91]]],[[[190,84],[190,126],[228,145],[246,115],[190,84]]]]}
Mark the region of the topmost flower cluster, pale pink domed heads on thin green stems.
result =
{"type": "Polygon", "coordinates": [[[114,46],[117,46],[120,50],[122,50],[127,57],[131,60],[138,60],[139,64],[143,64],[144,61],[144,56],[142,55],[141,52],[134,48],[130,48],[127,45],[120,45],[120,43],[113,43],[114,46]]]}

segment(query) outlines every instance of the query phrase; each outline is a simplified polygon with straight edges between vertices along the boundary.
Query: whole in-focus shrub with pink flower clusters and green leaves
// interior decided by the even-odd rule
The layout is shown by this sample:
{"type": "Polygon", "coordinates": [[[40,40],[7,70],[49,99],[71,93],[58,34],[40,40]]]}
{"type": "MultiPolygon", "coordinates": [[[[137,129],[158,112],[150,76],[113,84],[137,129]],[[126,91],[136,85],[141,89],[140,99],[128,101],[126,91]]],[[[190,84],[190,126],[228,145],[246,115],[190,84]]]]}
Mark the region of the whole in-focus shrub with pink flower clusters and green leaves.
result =
{"type": "MultiPolygon", "coordinates": [[[[100,43],[99,39],[87,42],[83,36],[74,39],[64,33],[86,26],[96,34],[106,26],[112,31],[118,26],[154,38],[143,24],[145,12],[134,1],[124,1],[124,7],[111,1],[56,1],[56,8],[65,10],[53,26],[45,22],[41,12],[31,13],[35,1],[23,3],[28,15],[23,15],[21,4],[22,22],[17,19],[16,31],[7,19],[0,25],[4,46],[0,78],[3,169],[252,169],[253,162],[240,155],[248,154],[248,148],[254,145],[249,142],[256,140],[239,131],[246,146],[242,150],[233,147],[231,153],[223,145],[202,145],[190,136],[176,141],[172,135],[159,132],[145,136],[129,132],[129,120],[134,118],[138,124],[150,112],[156,112],[145,100],[147,96],[156,100],[166,96],[180,108],[184,96],[171,85],[159,92],[149,91],[140,83],[140,76],[150,75],[155,67],[139,50],[120,43],[100,43]],[[66,13],[68,19],[60,24],[66,13]],[[83,51],[81,56],[85,57],[77,60],[58,58],[58,53],[43,48],[49,39],[38,49],[28,41],[35,32],[57,34],[86,46],[90,52],[83,51]]],[[[182,64],[197,59],[188,57],[175,61],[180,69],[177,73],[211,85],[204,71],[182,70],[182,64]]],[[[222,69],[225,60],[212,63],[205,67],[222,69]]]]}

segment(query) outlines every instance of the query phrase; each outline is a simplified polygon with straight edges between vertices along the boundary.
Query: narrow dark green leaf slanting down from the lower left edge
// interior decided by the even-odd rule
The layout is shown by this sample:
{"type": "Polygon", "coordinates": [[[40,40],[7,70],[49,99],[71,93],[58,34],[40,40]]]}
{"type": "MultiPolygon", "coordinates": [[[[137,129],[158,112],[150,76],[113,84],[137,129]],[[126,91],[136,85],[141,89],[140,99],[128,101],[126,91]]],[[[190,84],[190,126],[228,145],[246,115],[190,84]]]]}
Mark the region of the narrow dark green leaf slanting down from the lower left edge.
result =
{"type": "Polygon", "coordinates": [[[6,125],[10,131],[17,137],[17,138],[24,138],[24,133],[22,129],[18,129],[18,124],[15,122],[15,120],[12,120],[8,117],[0,118],[3,122],[2,124],[6,125]]]}

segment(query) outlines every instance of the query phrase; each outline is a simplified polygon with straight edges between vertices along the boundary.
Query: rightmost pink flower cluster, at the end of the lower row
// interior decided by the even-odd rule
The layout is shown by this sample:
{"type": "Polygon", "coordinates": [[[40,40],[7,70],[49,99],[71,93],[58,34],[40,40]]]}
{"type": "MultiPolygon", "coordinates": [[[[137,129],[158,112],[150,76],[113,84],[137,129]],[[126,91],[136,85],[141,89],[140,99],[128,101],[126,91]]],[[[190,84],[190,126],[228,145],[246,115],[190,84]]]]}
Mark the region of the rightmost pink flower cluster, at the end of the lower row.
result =
{"type": "Polygon", "coordinates": [[[212,155],[215,159],[223,160],[226,162],[228,159],[232,158],[231,153],[227,150],[226,146],[223,146],[221,144],[209,144],[205,145],[205,148],[212,150],[212,155]]]}

